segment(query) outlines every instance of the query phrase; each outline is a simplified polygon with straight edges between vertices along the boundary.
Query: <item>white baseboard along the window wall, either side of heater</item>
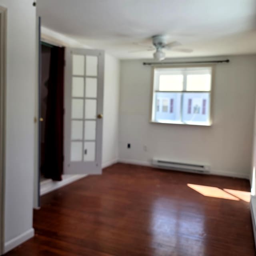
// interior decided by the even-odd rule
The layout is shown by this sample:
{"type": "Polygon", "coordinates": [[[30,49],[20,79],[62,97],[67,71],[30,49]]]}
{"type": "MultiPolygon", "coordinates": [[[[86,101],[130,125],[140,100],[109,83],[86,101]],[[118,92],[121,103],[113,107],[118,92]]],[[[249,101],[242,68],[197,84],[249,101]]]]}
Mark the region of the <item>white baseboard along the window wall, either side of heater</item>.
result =
{"type": "MultiPolygon", "coordinates": [[[[153,166],[150,161],[140,161],[140,160],[133,160],[133,159],[119,159],[118,162],[123,163],[123,164],[135,164],[135,165],[159,168],[159,167],[153,166]]],[[[191,172],[191,173],[194,173],[194,172],[191,172]]],[[[206,174],[226,176],[226,177],[232,177],[232,178],[242,178],[242,179],[250,180],[250,177],[248,174],[240,174],[240,173],[234,173],[234,172],[225,172],[225,171],[222,172],[222,171],[210,170],[210,172],[206,173],[206,174]]]]}

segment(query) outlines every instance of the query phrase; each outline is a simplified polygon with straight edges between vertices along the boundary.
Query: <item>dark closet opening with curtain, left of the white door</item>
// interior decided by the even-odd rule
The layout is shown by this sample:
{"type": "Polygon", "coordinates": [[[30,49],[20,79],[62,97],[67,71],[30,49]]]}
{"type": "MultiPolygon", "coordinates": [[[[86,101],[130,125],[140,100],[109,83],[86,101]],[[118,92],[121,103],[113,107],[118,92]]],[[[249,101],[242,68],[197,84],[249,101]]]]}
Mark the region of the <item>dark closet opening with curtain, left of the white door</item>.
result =
{"type": "Polygon", "coordinates": [[[64,48],[40,44],[39,150],[40,182],[62,180],[64,48]]]}

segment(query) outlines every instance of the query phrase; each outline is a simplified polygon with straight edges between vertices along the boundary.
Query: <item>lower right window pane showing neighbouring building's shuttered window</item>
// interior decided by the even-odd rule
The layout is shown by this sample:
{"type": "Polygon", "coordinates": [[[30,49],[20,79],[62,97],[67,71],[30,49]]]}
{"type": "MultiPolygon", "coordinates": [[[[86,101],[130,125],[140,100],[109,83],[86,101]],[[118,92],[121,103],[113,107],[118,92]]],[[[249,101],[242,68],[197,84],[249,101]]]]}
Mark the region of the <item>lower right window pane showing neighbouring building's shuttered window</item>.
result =
{"type": "Polygon", "coordinates": [[[210,120],[210,93],[185,92],[183,94],[182,122],[208,124],[210,120]]]}

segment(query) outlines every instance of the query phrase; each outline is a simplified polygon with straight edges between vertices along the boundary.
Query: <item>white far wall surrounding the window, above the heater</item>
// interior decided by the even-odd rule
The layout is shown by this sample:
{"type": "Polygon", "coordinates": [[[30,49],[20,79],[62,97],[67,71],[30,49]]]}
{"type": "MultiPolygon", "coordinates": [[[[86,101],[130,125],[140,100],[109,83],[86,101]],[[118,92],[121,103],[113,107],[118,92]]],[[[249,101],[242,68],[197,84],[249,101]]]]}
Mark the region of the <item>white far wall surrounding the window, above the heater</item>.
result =
{"type": "Polygon", "coordinates": [[[150,164],[153,157],[209,164],[216,174],[249,178],[251,171],[256,56],[217,64],[211,127],[150,124],[151,68],[121,62],[119,157],[150,164]],[[131,148],[127,148],[131,143],[131,148]],[[146,146],[146,151],[144,150],[146,146]]]}

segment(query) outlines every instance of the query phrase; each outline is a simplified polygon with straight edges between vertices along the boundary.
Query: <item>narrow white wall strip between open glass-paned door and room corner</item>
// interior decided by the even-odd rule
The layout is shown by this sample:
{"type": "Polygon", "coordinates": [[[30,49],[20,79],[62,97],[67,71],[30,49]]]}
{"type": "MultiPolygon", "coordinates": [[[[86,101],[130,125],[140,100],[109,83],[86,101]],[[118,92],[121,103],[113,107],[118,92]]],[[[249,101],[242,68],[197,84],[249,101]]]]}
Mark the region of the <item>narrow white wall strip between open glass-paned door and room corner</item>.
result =
{"type": "Polygon", "coordinates": [[[102,166],[118,160],[120,61],[105,54],[102,166]]]}

